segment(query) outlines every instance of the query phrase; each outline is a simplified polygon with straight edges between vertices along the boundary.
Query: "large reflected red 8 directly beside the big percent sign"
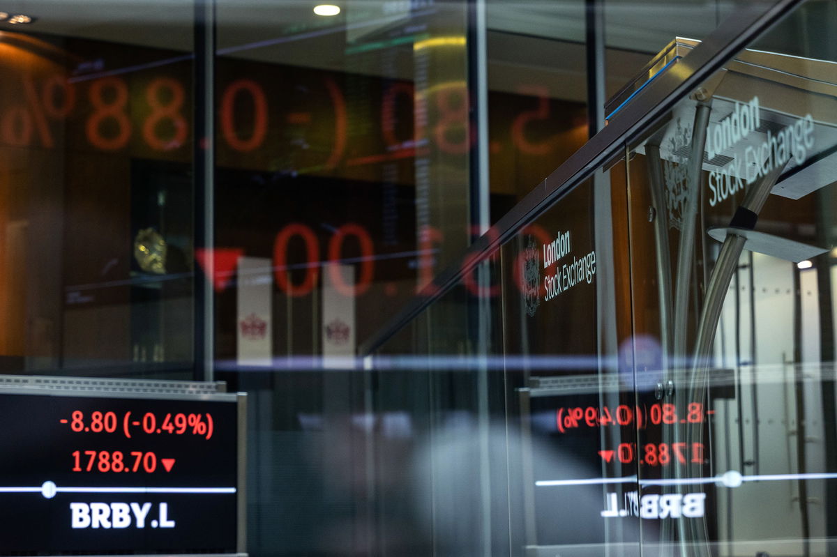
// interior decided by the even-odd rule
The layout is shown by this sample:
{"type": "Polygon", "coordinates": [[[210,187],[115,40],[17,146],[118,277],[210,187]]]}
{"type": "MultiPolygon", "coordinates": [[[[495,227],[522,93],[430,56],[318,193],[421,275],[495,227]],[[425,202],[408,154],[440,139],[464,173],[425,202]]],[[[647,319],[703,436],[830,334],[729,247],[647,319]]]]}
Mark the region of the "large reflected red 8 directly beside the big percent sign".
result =
{"type": "Polygon", "coordinates": [[[95,111],[87,119],[85,131],[87,141],[90,145],[100,148],[103,151],[116,151],[126,146],[131,138],[131,120],[128,119],[125,109],[128,104],[128,86],[125,81],[116,77],[97,79],[90,85],[90,104],[95,111]],[[110,90],[110,95],[105,91],[110,90]],[[108,136],[102,133],[105,124],[110,128],[110,123],[116,123],[116,134],[108,136]]]}

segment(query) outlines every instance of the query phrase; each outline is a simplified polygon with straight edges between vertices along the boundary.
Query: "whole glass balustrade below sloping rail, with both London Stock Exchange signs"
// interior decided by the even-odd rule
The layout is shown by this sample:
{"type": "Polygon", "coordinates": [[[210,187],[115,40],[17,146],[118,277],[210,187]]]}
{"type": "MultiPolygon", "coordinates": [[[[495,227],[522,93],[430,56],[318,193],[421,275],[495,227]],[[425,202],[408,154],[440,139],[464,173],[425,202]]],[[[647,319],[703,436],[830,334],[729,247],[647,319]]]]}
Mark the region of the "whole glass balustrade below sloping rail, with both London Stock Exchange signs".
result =
{"type": "MultiPolygon", "coordinates": [[[[431,393],[427,466],[444,493],[426,512],[490,529],[483,545],[434,530],[440,553],[479,552],[465,540],[543,555],[834,550],[837,62],[824,35],[819,58],[781,48],[788,26],[822,8],[798,8],[616,162],[558,187],[499,259],[485,253],[489,289],[469,291],[483,267],[463,267],[383,345],[381,365],[405,347],[424,358],[413,371],[431,393]],[[428,326],[452,302],[486,312],[456,342],[428,326]],[[467,418],[437,406],[445,375],[460,408],[463,375],[483,397],[467,418]]],[[[699,45],[678,39],[672,58],[699,45]]]]}

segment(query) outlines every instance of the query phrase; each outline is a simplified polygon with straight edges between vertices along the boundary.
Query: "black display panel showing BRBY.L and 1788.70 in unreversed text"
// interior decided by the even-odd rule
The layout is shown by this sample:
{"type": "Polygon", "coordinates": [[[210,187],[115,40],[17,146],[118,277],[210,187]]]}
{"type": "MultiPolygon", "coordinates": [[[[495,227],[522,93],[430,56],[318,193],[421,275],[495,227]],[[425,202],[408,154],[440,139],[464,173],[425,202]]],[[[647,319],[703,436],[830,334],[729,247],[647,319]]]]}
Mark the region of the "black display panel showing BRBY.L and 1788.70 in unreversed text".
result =
{"type": "Polygon", "coordinates": [[[0,393],[0,554],[236,553],[238,404],[0,393]]]}

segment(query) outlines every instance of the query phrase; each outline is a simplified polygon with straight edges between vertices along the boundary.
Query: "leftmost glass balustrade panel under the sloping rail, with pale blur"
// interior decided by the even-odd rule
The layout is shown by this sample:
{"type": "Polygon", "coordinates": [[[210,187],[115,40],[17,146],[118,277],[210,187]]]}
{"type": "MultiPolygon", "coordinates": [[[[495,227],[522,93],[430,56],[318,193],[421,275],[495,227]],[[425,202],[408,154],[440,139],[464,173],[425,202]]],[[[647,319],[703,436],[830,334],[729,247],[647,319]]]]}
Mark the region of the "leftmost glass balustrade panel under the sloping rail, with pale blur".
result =
{"type": "Polygon", "coordinates": [[[368,481],[399,554],[504,553],[507,435],[498,260],[488,258],[370,358],[368,481]]]}

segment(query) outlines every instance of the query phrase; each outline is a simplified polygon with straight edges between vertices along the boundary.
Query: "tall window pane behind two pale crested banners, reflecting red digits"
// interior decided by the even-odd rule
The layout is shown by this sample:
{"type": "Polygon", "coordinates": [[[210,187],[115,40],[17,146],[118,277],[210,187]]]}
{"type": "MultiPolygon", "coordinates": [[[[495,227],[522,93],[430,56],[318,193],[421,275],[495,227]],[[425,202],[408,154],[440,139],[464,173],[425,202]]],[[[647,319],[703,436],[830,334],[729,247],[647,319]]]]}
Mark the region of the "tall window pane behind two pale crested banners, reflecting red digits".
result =
{"type": "Polygon", "coordinates": [[[250,395],[250,553],[426,554],[452,543],[422,506],[427,432],[477,411],[475,373],[396,356],[472,354],[478,321],[439,304],[423,332],[452,344],[357,355],[479,232],[468,10],[336,4],[218,2],[218,377],[250,395]]]}

